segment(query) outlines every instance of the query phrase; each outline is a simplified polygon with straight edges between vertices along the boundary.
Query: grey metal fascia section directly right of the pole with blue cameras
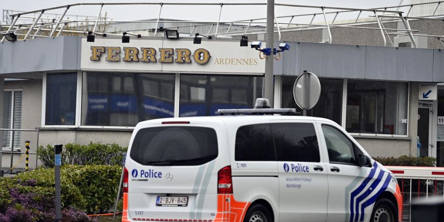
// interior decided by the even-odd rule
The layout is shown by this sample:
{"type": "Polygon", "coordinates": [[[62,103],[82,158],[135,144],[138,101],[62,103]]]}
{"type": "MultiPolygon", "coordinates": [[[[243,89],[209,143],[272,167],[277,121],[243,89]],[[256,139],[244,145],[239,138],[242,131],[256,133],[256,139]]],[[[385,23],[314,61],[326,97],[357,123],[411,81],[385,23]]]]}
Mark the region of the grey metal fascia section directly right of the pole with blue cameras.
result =
{"type": "Polygon", "coordinates": [[[296,43],[284,58],[284,74],[298,75],[307,70],[320,77],[364,78],[365,51],[364,46],[356,45],[296,43]]]}

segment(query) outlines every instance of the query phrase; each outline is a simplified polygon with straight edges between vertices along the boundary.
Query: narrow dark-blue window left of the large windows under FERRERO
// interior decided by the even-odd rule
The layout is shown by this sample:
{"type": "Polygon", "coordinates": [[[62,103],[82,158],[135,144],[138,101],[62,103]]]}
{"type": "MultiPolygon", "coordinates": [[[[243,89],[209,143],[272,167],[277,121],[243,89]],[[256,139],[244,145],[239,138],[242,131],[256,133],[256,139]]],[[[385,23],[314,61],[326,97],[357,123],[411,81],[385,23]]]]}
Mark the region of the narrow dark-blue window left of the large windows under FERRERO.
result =
{"type": "Polygon", "coordinates": [[[77,73],[46,75],[45,125],[74,125],[77,73]]]}

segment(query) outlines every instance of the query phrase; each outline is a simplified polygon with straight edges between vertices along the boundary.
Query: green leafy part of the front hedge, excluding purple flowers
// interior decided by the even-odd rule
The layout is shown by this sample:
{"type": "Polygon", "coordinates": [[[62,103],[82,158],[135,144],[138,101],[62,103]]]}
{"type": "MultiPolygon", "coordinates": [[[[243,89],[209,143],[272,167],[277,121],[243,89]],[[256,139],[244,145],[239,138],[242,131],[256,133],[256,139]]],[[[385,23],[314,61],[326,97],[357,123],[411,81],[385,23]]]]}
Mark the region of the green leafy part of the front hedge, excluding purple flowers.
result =
{"type": "MultiPolygon", "coordinates": [[[[121,166],[116,165],[62,166],[62,207],[74,207],[88,214],[107,212],[114,206],[121,171],[121,166]]],[[[18,194],[32,198],[35,206],[45,206],[50,202],[53,209],[54,187],[53,168],[38,168],[12,178],[0,178],[0,214],[10,209],[12,204],[17,204],[18,194]]],[[[29,211],[33,217],[40,217],[38,212],[41,210],[29,211]]]]}

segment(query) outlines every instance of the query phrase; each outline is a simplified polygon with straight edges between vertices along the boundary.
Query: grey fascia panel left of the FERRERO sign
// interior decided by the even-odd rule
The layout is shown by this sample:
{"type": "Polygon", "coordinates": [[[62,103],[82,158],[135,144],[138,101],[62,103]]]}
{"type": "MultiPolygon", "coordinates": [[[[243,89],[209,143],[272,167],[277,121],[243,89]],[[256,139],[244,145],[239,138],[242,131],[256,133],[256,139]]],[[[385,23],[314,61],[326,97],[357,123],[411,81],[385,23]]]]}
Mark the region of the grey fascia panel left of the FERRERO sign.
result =
{"type": "Polygon", "coordinates": [[[81,37],[37,38],[1,44],[0,74],[76,70],[81,37]]]}

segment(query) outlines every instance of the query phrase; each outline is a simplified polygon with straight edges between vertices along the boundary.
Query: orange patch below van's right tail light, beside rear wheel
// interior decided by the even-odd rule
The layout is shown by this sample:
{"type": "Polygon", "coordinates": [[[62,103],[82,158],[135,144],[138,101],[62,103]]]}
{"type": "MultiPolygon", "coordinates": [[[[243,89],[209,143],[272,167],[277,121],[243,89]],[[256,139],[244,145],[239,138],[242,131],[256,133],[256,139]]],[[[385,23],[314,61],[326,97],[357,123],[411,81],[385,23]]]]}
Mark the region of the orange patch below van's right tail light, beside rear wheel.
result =
{"type": "Polygon", "coordinates": [[[242,222],[250,204],[236,201],[233,194],[218,194],[218,213],[213,222],[242,222]]]}

